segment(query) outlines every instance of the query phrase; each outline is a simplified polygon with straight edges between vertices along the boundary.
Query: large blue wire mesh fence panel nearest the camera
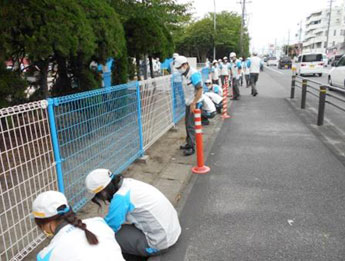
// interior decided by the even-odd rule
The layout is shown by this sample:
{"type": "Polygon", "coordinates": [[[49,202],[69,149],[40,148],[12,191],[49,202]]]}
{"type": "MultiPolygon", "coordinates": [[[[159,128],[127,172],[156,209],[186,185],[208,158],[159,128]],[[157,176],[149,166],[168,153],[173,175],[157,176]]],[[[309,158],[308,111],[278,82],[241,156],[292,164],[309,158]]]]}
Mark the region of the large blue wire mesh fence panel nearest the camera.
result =
{"type": "Polygon", "coordinates": [[[141,154],[136,82],[54,98],[64,193],[75,210],[89,199],[94,168],[120,173],[141,154]]]}

